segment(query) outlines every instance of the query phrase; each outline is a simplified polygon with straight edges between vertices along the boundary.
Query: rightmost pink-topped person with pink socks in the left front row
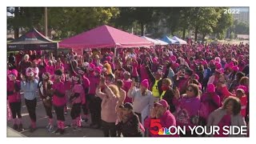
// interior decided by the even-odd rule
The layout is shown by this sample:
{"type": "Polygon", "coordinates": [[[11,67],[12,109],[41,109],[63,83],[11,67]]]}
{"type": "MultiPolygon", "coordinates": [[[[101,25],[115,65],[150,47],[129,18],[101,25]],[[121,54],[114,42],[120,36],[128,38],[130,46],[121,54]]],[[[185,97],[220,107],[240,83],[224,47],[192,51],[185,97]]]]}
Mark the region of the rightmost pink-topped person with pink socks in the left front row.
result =
{"type": "Polygon", "coordinates": [[[70,104],[72,106],[70,116],[72,118],[71,127],[73,130],[78,130],[81,127],[81,106],[85,105],[86,98],[85,98],[85,91],[82,86],[82,78],[80,75],[76,75],[72,78],[73,86],[71,88],[70,94],[70,104]]]}

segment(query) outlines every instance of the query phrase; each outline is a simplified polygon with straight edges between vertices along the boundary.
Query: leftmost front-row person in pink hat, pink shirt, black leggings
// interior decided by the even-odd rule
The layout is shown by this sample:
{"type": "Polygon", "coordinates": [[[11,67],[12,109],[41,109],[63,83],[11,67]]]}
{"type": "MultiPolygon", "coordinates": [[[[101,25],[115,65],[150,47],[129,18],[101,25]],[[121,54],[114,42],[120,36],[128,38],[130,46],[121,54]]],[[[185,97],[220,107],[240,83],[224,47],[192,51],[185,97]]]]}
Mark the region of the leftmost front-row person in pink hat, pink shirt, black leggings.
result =
{"type": "Polygon", "coordinates": [[[7,81],[7,100],[10,103],[10,110],[14,121],[13,129],[22,131],[22,102],[19,90],[21,90],[21,82],[16,78],[18,76],[17,70],[11,70],[8,74],[7,81]]]}

